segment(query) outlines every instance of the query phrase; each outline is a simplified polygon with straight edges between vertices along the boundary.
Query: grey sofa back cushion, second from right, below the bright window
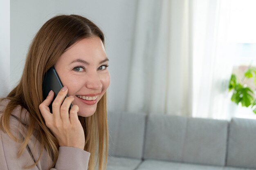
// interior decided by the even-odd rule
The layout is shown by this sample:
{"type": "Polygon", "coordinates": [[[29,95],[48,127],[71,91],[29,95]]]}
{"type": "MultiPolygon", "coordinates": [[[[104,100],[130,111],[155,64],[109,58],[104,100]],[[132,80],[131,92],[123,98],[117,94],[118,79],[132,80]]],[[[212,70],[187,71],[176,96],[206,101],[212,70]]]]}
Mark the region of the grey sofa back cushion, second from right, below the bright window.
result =
{"type": "Polygon", "coordinates": [[[188,118],[183,161],[208,165],[225,165],[228,121],[188,118]]]}

